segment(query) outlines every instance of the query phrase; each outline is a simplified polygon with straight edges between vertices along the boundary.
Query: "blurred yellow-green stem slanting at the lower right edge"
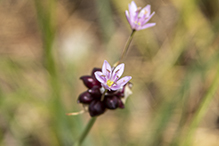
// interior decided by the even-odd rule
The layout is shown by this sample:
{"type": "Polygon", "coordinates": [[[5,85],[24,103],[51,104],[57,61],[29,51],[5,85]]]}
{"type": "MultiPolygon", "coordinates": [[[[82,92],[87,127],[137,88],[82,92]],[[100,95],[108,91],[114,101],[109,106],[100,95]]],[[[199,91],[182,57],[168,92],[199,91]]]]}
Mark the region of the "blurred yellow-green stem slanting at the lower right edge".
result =
{"type": "Polygon", "coordinates": [[[200,103],[198,110],[195,113],[193,120],[191,121],[191,124],[190,124],[189,129],[188,129],[189,131],[185,135],[185,138],[184,138],[185,141],[182,144],[182,146],[190,146],[191,145],[192,136],[194,135],[194,132],[195,132],[196,128],[198,127],[198,124],[201,122],[203,116],[205,115],[207,108],[208,108],[208,105],[212,101],[214,94],[218,89],[218,86],[219,86],[219,67],[217,69],[217,73],[216,73],[216,76],[215,76],[213,83],[211,84],[206,95],[204,96],[203,101],[200,103]]]}

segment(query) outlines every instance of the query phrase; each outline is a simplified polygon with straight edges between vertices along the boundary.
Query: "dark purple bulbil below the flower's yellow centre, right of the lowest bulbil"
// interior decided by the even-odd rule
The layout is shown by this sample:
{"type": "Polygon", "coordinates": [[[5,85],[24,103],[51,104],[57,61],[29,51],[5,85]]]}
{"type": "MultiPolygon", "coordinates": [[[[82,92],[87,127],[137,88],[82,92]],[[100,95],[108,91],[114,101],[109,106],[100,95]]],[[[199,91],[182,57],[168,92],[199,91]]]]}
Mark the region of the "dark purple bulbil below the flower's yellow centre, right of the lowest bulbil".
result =
{"type": "Polygon", "coordinates": [[[118,97],[116,96],[107,96],[103,102],[108,109],[116,109],[118,107],[118,97]]]}

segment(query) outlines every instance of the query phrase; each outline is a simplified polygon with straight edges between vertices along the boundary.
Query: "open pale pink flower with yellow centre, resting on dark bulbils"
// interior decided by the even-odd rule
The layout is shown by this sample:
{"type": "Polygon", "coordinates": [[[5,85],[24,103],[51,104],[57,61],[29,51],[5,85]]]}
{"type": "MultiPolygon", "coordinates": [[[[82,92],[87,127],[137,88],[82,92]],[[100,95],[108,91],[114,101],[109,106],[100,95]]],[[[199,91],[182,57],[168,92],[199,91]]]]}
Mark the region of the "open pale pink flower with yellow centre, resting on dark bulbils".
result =
{"type": "Polygon", "coordinates": [[[110,64],[105,60],[102,66],[102,72],[96,71],[95,77],[107,90],[116,91],[121,89],[129,80],[131,76],[125,76],[121,79],[121,75],[124,72],[124,63],[118,65],[115,69],[112,69],[110,64]]]}

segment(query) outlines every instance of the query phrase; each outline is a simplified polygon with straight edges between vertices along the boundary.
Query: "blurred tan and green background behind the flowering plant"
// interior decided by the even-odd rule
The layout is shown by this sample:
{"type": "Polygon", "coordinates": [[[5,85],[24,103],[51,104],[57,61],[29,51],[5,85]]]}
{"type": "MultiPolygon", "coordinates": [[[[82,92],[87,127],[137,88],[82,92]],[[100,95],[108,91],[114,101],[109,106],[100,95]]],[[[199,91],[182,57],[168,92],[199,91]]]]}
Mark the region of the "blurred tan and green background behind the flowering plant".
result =
{"type": "MultiPolygon", "coordinates": [[[[1,146],[73,145],[90,118],[65,115],[82,109],[79,77],[118,60],[130,2],[0,0],[1,146]]],[[[122,61],[133,94],[125,109],[98,117],[84,145],[179,145],[218,70],[217,0],[135,2],[151,5],[156,26],[136,32],[122,61]]],[[[194,146],[219,145],[218,95],[194,146]]]]}

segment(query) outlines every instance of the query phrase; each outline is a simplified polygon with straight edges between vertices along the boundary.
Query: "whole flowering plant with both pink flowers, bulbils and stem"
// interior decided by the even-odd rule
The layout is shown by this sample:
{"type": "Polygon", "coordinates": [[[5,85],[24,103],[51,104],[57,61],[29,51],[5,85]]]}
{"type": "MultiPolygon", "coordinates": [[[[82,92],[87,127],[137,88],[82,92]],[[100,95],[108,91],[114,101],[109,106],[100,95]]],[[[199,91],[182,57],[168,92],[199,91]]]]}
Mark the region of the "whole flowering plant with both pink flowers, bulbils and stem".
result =
{"type": "MultiPolygon", "coordinates": [[[[78,102],[83,104],[85,107],[84,111],[88,111],[92,118],[78,141],[75,143],[76,146],[79,146],[83,142],[97,116],[103,114],[106,109],[114,110],[117,108],[124,108],[127,97],[132,93],[132,84],[129,82],[132,77],[125,76],[119,79],[125,68],[125,64],[120,64],[120,61],[126,54],[134,33],[137,30],[152,27],[156,25],[156,23],[148,23],[151,17],[155,14],[155,12],[151,14],[150,5],[141,9],[137,8],[135,2],[132,1],[131,4],[129,4],[129,11],[126,11],[125,14],[132,28],[132,33],[128,38],[119,61],[111,67],[105,60],[102,69],[94,68],[90,76],[82,76],[80,78],[88,90],[79,95],[78,102]]],[[[69,113],[68,115],[77,114],[78,113],[69,113]]]]}

